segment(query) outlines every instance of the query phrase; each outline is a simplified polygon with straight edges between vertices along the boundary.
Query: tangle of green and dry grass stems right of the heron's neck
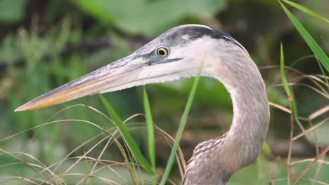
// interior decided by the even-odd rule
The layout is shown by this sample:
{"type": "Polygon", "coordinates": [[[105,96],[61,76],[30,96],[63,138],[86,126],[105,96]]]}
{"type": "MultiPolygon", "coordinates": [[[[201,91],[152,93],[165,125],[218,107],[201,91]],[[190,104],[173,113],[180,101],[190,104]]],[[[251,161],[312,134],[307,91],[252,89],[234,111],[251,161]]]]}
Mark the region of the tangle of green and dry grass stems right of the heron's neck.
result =
{"type": "MultiPolygon", "coordinates": [[[[282,85],[279,85],[279,86],[284,87],[285,93],[288,95],[288,99],[295,100],[295,98],[291,99],[289,95],[292,95],[292,97],[293,97],[291,85],[296,85],[296,84],[300,84],[300,85],[303,85],[307,88],[310,88],[311,90],[318,93],[319,95],[322,95],[325,98],[325,100],[328,99],[328,91],[326,90],[326,88],[322,88],[321,85],[320,85],[320,84],[326,85],[326,82],[325,82],[324,78],[327,78],[327,77],[326,76],[314,75],[314,74],[313,75],[304,74],[304,73],[302,73],[302,71],[298,71],[297,69],[292,69],[291,67],[286,67],[285,66],[285,60],[284,60],[284,54],[283,54],[283,46],[280,47],[280,72],[281,72],[281,80],[283,81],[283,83],[282,83],[282,85]],[[292,76],[295,76],[295,77],[290,79],[290,81],[293,81],[293,83],[290,83],[287,76],[286,76],[286,74],[288,73],[288,71],[285,71],[286,68],[289,69],[289,72],[294,72],[295,74],[297,74],[297,76],[292,75],[292,76]],[[316,89],[316,88],[312,87],[311,85],[307,85],[307,84],[304,84],[302,82],[299,82],[299,81],[302,81],[303,79],[309,79],[309,81],[311,81],[314,85],[316,85],[316,88],[319,88],[319,89],[316,89]]],[[[275,86],[277,86],[277,85],[275,85],[275,86]]],[[[289,103],[290,103],[290,109],[293,109],[292,108],[293,107],[292,102],[289,101],[289,103]]],[[[324,125],[325,123],[328,123],[328,118],[324,118],[321,121],[318,121],[318,123],[313,123],[313,121],[316,118],[319,118],[319,117],[325,115],[329,111],[329,106],[328,105],[323,105],[323,107],[320,107],[320,108],[316,109],[311,114],[309,114],[309,116],[306,116],[306,117],[301,117],[301,116],[295,117],[295,116],[292,116],[294,114],[290,109],[287,109],[287,108],[281,106],[280,104],[273,104],[272,102],[270,102],[270,104],[273,107],[281,109],[281,110],[287,112],[288,114],[290,114],[290,125],[293,124],[292,121],[297,122],[299,120],[307,121],[307,122],[310,123],[310,127],[307,128],[306,130],[302,130],[302,132],[300,132],[298,135],[293,136],[292,135],[293,132],[290,132],[290,141],[289,141],[290,147],[289,147],[289,153],[288,153],[288,161],[287,161],[287,163],[285,163],[285,161],[283,159],[280,159],[280,163],[282,163],[282,165],[287,170],[288,178],[281,179],[281,180],[282,181],[283,180],[288,181],[287,184],[291,183],[290,179],[294,179],[294,181],[296,182],[297,179],[301,178],[302,175],[304,175],[306,173],[306,171],[310,169],[310,167],[305,168],[305,171],[302,172],[302,174],[297,178],[293,174],[292,166],[300,164],[300,163],[305,163],[305,162],[308,162],[308,161],[311,161],[311,162],[316,161],[317,163],[319,163],[319,165],[317,167],[316,172],[314,172],[314,179],[305,178],[305,179],[303,179],[303,181],[310,181],[310,183],[312,183],[312,184],[325,184],[325,182],[320,181],[320,180],[316,180],[316,179],[318,179],[319,174],[323,173],[323,172],[321,172],[321,169],[323,169],[323,165],[328,165],[328,161],[326,161],[326,160],[315,160],[315,159],[303,159],[302,158],[300,160],[295,160],[295,161],[292,162],[291,161],[291,158],[292,158],[291,153],[292,153],[293,142],[295,142],[297,139],[299,139],[301,137],[304,137],[304,136],[306,136],[307,139],[310,138],[309,136],[316,137],[316,135],[314,133],[311,133],[311,132],[318,129],[321,125],[324,125]]],[[[292,125],[292,128],[293,128],[293,125],[292,125]]],[[[315,147],[316,147],[316,151],[321,149],[320,147],[318,147],[317,144],[315,144],[315,147]]],[[[320,152],[318,152],[317,156],[319,156],[319,155],[320,155],[320,152]]],[[[316,159],[318,159],[318,158],[316,158],[316,159]]],[[[314,163],[312,163],[311,165],[314,165],[314,163]]],[[[301,184],[303,184],[303,183],[301,182],[301,184]]]]}

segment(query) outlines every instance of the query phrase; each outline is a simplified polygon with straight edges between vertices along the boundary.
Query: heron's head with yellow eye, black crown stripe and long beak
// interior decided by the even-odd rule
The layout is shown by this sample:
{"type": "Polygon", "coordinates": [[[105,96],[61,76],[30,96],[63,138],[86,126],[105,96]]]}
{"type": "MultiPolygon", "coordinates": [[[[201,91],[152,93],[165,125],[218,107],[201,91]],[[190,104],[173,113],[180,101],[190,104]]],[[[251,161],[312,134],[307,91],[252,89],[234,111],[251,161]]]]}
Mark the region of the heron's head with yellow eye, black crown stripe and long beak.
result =
{"type": "MultiPolygon", "coordinates": [[[[236,42],[203,25],[174,27],[131,55],[34,98],[15,111],[39,109],[95,93],[195,76],[207,49],[213,44],[212,39],[236,42]]],[[[207,71],[202,72],[205,73],[207,71]]]]}

